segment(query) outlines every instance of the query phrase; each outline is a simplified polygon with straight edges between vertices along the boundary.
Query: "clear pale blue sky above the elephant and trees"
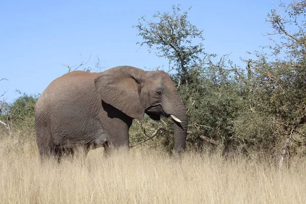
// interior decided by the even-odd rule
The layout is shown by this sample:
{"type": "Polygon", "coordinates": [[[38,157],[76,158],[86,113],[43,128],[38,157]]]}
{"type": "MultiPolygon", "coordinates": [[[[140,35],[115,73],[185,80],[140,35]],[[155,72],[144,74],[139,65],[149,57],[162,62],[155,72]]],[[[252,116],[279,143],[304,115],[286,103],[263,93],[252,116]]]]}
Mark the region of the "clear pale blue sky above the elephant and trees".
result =
{"type": "MultiPolygon", "coordinates": [[[[278,3],[278,0],[275,1],[278,3]]],[[[290,0],[283,2],[289,3],[290,0]]],[[[167,66],[167,60],[149,54],[136,44],[141,38],[132,28],[138,18],[148,19],[157,11],[171,12],[181,4],[192,6],[189,20],[203,37],[207,53],[231,54],[236,64],[247,51],[267,45],[270,31],[265,18],[274,5],[270,0],[218,1],[0,1],[0,95],[8,101],[26,93],[41,93],[50,82],[67,72],[61,64],[77,65],[91,55],[88,66],[99,56],[101,65],[111,68],[167,66]],[[139,49],[139,50],[138,50],[139,49]],[[137,51],[138,50],[138,51],[137,51]]]]}

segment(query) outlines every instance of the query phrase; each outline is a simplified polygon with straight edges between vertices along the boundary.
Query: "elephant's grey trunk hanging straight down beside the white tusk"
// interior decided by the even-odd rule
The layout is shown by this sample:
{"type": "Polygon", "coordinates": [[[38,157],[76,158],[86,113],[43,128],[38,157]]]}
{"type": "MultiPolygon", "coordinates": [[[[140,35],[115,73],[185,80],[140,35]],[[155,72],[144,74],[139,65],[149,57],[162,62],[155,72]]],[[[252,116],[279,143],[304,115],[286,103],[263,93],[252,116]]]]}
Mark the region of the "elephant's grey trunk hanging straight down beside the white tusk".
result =
{"type": "Polygon", "coordinates": [[[186,146],[186,136],[187,136],[187,113],[183,104],[175,107],[175,116],[181,122],[177,122],[173,119],[173,129],[174,129],[174,151],[176,153],[181,153],[184,151],[186,146]]]}

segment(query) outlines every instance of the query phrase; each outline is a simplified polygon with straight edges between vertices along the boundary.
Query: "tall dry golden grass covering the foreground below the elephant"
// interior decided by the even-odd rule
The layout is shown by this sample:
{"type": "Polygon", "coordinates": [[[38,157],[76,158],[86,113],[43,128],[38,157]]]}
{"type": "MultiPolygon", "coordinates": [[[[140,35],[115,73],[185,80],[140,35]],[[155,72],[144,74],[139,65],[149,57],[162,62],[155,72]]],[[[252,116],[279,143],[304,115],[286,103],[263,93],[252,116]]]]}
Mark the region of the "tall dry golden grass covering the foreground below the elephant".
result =
{"type": "Polygon", "coordinates": [[[41,166],[35,144],[0,141],[1,203],[306,203],[306,162],[283,171],[266,163],[156,150],[92,150],[41,166]]]}

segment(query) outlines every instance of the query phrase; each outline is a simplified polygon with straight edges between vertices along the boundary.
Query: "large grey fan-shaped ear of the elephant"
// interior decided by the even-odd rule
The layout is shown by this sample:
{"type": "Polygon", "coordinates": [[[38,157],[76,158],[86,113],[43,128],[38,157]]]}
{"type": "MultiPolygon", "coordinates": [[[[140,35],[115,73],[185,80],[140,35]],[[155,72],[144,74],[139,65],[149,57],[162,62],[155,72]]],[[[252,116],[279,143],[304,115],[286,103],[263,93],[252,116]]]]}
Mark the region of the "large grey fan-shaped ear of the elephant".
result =
{"type": "Polygon", "coordinates": [[[108,69],[94,80],[101,99],[126,115],[143,119],[144,106],[140,97],[139,78],[142,69],[119,66],[108,69]]]}

